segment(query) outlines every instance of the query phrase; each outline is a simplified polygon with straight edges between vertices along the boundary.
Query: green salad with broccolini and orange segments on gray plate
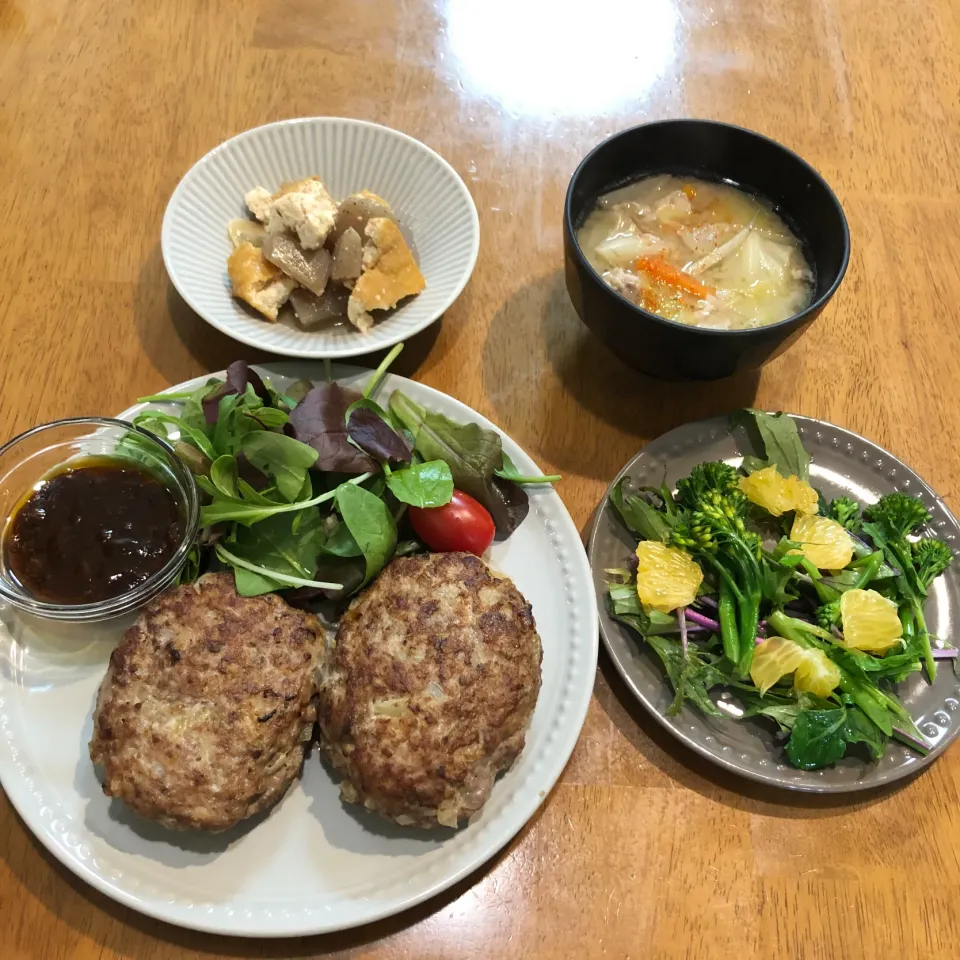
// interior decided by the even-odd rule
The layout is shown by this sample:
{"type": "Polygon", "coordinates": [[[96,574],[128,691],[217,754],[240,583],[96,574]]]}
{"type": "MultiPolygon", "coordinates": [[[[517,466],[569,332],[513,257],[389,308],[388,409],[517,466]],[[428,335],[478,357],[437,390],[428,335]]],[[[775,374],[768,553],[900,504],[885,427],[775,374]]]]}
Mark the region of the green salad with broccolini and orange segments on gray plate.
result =
{"type": "Polygon", "coordinates": [[[848,751],[876,760],[894,738],[929,744],[894,692],[957,650],[931,636],[924,601],[952,560],[923,535],[931,515],[890,493],[831,502],[810,485],[796,423],[756,410],[734,417],[762,457],[702,463],[676,489],[621,481],[611,501],[637,549],[607,571],[612,615],[657,655],[674,691],[709,716],[768,717],[787,759],[811,770],[848,751]],[[739,715],[740,710],[734,715],[739,715]]]}

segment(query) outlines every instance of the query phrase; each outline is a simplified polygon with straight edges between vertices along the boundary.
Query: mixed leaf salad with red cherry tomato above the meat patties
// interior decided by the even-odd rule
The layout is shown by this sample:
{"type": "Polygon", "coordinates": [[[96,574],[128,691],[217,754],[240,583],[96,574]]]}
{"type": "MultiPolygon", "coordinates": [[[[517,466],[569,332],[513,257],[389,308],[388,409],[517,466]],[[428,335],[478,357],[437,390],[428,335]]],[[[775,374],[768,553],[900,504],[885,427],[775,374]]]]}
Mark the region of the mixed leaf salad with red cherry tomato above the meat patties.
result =
{"type": "MultiPolygon", "coordinates": [[[[362,393],[329,377],[279,391],[238,361],[192,392],[141,398],[175,405],[134,423],[173,443],[201,494],[200,534],[180,582],[232,568],[243,596],[343,600],[396,555],[482,553],[494,534],[519,526],[529,509],[523,485],[558,478],[521,476],[498,434],[400,391],[381,405],[374,398],[401,349],[362,393]],[[418,511],[429,514],[422,537],[410,522],[418,511]],[[480,534],[460,545],[471,518],[480,534]]],[[[136,458],[136,438],[125,446],[118,452],[136,458]]]]}

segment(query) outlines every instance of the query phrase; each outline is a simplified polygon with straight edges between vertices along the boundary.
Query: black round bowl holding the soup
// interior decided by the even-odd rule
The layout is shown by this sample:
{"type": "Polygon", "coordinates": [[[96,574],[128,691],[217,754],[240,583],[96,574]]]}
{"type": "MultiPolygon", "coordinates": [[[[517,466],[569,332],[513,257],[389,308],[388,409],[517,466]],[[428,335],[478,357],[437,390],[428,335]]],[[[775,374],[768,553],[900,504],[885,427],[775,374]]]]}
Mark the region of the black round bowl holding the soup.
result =
{"type": "Polygon", "coordinates": [[[567,291],[580,319],[630,366],[662,380],[717,380],[772,360],[817,318],[850,260],[846,217],[820,174],[774,140],[710,120],[647,123],[595,147],[570,180],[563,237],[567,291]],[[658,317],[607,286],[580,249],[577,230],[600,196],[661,173],[726,181],[772,203],[813,268],[810,306],[769,326],[715,330],[658,317]]]}

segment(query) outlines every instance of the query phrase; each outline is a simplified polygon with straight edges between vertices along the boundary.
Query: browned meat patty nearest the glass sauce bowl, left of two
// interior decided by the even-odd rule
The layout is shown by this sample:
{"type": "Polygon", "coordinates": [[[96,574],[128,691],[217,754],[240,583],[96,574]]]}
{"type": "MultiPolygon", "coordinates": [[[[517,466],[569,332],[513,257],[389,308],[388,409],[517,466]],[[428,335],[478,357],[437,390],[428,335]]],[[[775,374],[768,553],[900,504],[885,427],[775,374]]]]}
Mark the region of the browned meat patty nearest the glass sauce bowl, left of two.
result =
{"type": "Polygon", "coordinates": [[[316,715],[323,629],[232,573],[175,587],[110,657],[90,757],[103,791],[172,828],[226,830],[296,780],[316,715]]]}

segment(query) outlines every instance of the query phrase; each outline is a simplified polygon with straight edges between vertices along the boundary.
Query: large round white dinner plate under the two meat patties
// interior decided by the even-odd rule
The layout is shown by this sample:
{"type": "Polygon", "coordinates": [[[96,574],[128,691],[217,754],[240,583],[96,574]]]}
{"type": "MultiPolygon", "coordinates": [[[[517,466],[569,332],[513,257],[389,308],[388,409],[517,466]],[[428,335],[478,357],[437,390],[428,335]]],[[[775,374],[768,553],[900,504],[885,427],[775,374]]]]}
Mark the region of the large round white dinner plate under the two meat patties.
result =
{"type": "MultiPolygon", "coordinates": [[[[318,364],[257,369],[281,387],[322,376],[318,364]]],[[[369,375],[343,368],[338,379],[361,384],[369,375]]],[[[387,376],[380,396],[397,388],[454,420],[496,429],[457,400],[403,377],[387,376]]],[[[520,470],[537,472],[500,435],[520,470]]],[[[597,606],[586,554],[560,497],[549,487],[527,489],[529,515],[493,546],[490,562],[533,606],[543,640],[542,689],[523,753],[458,832],[418,832],[344,805],[316,750],[280,804],[243,829],[207,836],[140,820],[104,796],[87,754],[97,688],[120,629],[28,622],[0,605],[0,779],[7,796],[77,876],[178,926],[300,936],[367,923],[439,893],[503,847],[540,806],[573,750],[593,689],[597,606]]]]}

